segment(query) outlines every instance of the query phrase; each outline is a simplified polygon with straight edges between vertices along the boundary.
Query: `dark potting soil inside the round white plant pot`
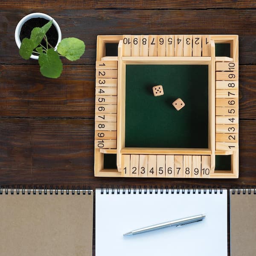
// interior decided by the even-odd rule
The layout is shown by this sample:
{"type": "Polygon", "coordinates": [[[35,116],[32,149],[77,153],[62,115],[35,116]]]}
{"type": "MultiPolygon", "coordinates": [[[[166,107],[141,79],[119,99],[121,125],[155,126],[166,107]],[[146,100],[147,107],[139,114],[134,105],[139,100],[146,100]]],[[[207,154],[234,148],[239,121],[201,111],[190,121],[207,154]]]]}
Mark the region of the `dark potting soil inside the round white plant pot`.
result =
{"type": "MultiPolygon", "coordinates": [[[[27,20],[20,29],[20,41],[23,38],[30,38],[33,28],[44,26],[49,20],[44,18],[32,18],[27,20]]],[[[58,32],[54,25],[46,33],[47,40],[52,47],[55,47],[58,42],[58,32]]],[[[46,41],[43,39],[41,44],[46,47],[46,41]]]]}

